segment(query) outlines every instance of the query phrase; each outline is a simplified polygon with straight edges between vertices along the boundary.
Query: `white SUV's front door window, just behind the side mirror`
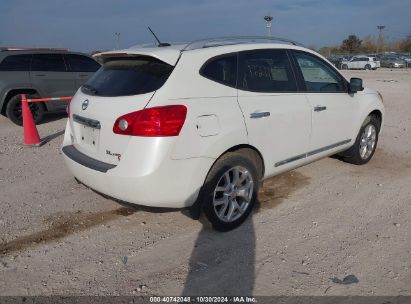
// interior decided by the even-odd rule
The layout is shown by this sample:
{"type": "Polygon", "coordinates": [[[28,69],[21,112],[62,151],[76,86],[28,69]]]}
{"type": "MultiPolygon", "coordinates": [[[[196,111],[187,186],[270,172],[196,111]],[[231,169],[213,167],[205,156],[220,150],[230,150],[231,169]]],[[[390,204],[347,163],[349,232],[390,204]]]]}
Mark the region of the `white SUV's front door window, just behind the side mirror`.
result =
{"type": "Polygon", "coordinates": [[[345,79],[329,64],[305,52],[294,54],[308,92],[346,92],[345,79]]]}

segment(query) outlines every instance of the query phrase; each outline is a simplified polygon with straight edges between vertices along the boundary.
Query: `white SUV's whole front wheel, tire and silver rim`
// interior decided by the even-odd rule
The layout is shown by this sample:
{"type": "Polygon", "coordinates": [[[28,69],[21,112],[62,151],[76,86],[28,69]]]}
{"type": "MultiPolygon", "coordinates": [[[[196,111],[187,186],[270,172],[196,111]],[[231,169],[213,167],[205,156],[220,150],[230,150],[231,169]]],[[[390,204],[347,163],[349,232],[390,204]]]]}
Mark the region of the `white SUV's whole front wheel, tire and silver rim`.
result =
{"type": "Polygon", "coordinates": [[[364,165],[370,161],[378,144],[380,121],[370,115],[362,124],[354,145],[343,152],[343,160],[354,165],[364,165]]]}

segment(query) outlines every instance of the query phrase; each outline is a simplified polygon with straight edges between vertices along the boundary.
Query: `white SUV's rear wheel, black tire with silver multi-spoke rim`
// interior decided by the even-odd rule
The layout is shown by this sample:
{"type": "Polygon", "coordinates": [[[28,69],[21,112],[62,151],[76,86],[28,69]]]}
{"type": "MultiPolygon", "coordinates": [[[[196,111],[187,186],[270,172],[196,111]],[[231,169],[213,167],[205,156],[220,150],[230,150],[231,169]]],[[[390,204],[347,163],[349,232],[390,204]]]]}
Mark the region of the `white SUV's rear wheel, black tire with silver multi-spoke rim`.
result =
{"type": "Polygon", "coordinates": [[[242,154],[227,153],[216,161],[200,193],[215,230],[232,230],[247,219],[257,200],[258,176],[256,165],[242,154]]]}

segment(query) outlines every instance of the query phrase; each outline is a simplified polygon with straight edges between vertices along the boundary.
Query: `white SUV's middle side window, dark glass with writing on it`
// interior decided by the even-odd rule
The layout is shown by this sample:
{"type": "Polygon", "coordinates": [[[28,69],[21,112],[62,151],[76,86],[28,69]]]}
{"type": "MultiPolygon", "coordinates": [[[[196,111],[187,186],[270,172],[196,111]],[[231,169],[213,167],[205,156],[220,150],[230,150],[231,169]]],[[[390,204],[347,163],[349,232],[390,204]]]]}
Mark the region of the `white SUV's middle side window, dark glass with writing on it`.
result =
{"type": "Polygon", "coordinates": [[[242,90],[253,92],[297,91],[297,83],[285,50],[241,52],[238,75],[238,88],[242,90]]]}

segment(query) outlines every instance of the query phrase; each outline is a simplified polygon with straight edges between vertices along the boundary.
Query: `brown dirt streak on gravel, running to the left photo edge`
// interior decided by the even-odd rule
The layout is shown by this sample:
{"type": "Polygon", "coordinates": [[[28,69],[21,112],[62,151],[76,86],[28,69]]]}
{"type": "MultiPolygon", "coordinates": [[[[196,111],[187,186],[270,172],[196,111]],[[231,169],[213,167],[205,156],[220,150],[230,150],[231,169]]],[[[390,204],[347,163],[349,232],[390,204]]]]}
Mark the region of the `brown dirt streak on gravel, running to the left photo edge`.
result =
{"type": "Polygon", "coordinates": [[[49,226],[47,229],[0,244],[0,254],[6,255],[37,246],[38,244],[52,242],[70,234],[112,221],[120,216],[129,216],[136,211],[137,209],[122,207],[91,214],[82,214],[81,211],[71,214],[55,214],[44,221],[49,226]]]}

